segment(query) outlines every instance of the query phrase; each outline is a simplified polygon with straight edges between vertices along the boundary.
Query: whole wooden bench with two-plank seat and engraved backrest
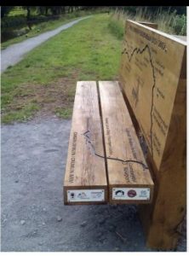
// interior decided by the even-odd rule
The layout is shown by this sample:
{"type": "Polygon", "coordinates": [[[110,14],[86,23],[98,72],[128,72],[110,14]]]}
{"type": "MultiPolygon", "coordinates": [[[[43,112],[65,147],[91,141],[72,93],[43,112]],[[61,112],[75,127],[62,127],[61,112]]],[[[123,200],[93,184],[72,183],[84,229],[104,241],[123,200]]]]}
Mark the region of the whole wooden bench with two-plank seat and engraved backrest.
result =
{"type": "Polygon", "coordinates": [[[186,214],[186,42],[153,27],[127,21],[119,82],[77,82],[64,201],[141,204],[147,246],[169,249],[186,214]]]}

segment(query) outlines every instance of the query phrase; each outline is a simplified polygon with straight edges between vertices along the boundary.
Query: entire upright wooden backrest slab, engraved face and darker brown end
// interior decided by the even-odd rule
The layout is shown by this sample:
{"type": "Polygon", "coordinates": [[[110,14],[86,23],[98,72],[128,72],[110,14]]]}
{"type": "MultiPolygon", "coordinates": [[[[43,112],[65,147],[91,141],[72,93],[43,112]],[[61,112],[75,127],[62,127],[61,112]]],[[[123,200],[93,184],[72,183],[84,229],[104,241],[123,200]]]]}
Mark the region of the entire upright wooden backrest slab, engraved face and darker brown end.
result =
{"type": "Polygon", "coordinates": [[[174,248],[186,213],[186,42],[128,21],[120,82],[153,170],[152,204],[140,207],[147,245],[174,248]]]}

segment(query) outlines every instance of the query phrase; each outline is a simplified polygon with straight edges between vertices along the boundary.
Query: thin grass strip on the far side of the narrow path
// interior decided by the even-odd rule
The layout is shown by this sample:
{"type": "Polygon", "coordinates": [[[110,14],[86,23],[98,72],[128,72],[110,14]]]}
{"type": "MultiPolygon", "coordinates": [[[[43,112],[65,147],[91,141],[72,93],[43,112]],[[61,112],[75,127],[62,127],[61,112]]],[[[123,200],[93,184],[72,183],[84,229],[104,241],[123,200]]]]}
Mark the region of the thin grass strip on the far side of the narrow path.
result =
{"type": "Polygon", "coordinates": [[[16,38],[11,38],[8,41],[3,42],[1,44],[1,49],[6,49],[11,44],[20,43],[26,40],[26,38],[33,38],[39,35],[40,33],[53,30],[59,26],[66,24],[69,21],[76,20],[78,17],[82,17],[85,15],[87,16],[89,14],[90,14],[89,12],[87,13],[84,11],[74,12],[72,14],[66,14],[66,15],[60,16],[58,20],[49,20],[49,21],[45,21],[45,22],[41,22],[39,24],[33,25],[31,26],[32,28],[31,31],[29,31],[27,26],[23,26],[22,28],[18,29],[18,32],[24,33],[24,35],[20,35],[16,38]],[[25,31],[27,32],[25,33],[25,31]]]}

